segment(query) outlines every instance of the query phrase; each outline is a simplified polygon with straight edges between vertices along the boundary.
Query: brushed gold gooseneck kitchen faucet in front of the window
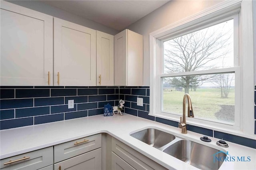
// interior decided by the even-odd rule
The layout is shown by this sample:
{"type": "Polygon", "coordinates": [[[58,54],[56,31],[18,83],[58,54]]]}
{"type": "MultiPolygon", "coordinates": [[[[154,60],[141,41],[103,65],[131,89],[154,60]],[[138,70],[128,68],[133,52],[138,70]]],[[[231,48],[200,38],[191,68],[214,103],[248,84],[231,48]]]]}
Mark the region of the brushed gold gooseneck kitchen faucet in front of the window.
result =
{"type": "Polygon", "coordinates": [[[188,100],[188,117],[194,117],[192,103],[190,99],[190,95],[186,93],[183,97],[183,114],[180,117],[179,128],[181,128],[181,133],[187,134],[187,123],[186,123],[186,100],[188,100]]]}

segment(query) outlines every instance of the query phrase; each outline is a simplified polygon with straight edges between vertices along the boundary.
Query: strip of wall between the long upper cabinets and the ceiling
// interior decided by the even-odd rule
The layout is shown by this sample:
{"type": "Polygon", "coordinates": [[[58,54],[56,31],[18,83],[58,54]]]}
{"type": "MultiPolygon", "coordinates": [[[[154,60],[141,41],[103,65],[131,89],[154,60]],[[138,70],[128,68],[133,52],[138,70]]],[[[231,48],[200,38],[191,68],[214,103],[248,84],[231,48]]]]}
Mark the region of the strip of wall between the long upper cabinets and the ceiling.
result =
{"type": "Polygon", "coordinates": [[[104,26],[102,24],[99,24],[97,22],[94,22],[92,20],[88,20],[86,18],[83,18],[81,16],[77,16],[75,14],[71,14],[69,12],[66,12],[60,8],[50,6],[48,4],[45,4],[40,1],[36,0],[8,0],[8,2],[11,2],[13,4],[17,4],[19,6],[24,6],[26,8],[30,8],[32,10],[42,12],[44,14],[48,14],[50,16],[54,16],[57,18],[60,18],[62,20],[67,20],[82,26],[86,26],[88,28],[92,28],[94,30],[99,30],[102,32],[106,32],[111,35],[116,35],[119,33],[119,31],[114,30],[113,28],[109,28],[107,26],[104,26]]]}

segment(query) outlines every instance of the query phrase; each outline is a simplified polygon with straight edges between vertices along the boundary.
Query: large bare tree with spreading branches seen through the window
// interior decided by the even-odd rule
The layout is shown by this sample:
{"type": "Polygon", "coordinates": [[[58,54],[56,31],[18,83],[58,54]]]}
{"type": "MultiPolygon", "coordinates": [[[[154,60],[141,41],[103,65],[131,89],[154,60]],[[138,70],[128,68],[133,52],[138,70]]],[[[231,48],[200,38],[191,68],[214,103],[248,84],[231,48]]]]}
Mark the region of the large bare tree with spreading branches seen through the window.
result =
{"type": "MultiPolygon", "coordinates": [[[[229,32],[206,28],[165,42],[164,45],[168,48],[164,51],[164,72],[198,71],[216,67],[210,63],[229,52],[226,47],[231,36],[229,32]]],[[[191,85],[194,84],[194,90],[196,90],[200,85],[199,82],[206,80],[206,77],[182,76],[165,80],[166,83],[179,84],[185,89],[185,93],[189,93],[191,85]]]]}

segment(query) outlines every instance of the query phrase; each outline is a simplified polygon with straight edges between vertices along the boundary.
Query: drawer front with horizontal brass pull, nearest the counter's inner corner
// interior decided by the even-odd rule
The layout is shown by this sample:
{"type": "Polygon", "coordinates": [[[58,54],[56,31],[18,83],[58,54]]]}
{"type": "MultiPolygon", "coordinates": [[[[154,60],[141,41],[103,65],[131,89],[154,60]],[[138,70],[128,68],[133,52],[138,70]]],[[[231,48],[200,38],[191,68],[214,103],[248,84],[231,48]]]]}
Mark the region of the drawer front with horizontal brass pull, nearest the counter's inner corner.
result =
{"type": "Polygon", "coordinates": [[[101,147],[101,134],[72,140],[54,146],[54,163],[101,147]]]}

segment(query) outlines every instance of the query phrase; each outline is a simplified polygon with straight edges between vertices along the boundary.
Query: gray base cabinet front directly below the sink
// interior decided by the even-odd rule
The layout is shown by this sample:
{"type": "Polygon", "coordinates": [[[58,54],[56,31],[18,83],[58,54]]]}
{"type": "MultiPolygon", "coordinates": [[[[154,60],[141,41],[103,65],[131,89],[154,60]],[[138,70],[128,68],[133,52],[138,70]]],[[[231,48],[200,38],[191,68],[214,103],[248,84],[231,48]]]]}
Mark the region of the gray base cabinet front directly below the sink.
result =
{"type": "Polygon", "coordinates": [[[112,169],[167,170],[130,146],[112,138],[112,169]],[[118,156],[119,158],[116,158],[118,156]],[[121,160],[120,160],[121,159],[121,160]],[[128,166],[128,165],[129,166],[128,166]],[[114,166],[114,167],[113,167],[114,166]]]}

